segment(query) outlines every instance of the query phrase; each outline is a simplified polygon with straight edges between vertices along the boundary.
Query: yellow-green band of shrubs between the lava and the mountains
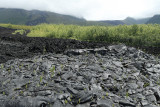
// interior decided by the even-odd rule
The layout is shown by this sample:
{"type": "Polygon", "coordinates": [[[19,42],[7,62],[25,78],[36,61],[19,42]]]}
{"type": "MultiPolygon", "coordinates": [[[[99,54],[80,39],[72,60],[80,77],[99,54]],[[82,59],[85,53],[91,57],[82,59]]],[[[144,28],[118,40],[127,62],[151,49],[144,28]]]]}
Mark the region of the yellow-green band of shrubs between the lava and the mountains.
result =
{"type": "Polygon", "coordinates": [[[37,26],[0,24],[15,29],[30,30],[29,37],[50,37],[125,43],[132,46],[160,46],[160,25],[78,26],[41,24],[37,26]]]}

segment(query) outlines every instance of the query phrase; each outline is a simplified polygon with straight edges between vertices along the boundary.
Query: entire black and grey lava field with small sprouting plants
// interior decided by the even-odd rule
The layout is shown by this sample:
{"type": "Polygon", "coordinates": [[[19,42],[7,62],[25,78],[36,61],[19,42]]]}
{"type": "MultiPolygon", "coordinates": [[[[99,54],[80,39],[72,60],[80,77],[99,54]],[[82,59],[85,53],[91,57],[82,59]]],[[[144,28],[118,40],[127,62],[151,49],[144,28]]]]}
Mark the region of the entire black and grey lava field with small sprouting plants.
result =
{"type": "Polygon", "coordinates": [[[160,106],[158,48],[14,31],[0,28],[0,107],[160,106]]]}

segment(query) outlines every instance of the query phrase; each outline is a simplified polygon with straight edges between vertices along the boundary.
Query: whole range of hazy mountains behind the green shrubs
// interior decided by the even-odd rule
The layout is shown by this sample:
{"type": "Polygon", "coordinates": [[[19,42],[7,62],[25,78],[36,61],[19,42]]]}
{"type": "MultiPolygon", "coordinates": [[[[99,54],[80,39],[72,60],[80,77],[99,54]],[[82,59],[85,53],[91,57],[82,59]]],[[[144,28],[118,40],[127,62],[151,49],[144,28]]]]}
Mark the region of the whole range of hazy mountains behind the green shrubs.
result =
{"type": "Polygon", "coordinates": [[[153,17],[134,19],[127,17],[124,20],[100,20],[87,21],[70,15],[63,15],[49,11],[24,10],[13,8],[0,8],[0,23],[38,25],[48,24],[76,24],[76,25],[132,25],[132,24],[160,24],[160,15],[153,17]]]}

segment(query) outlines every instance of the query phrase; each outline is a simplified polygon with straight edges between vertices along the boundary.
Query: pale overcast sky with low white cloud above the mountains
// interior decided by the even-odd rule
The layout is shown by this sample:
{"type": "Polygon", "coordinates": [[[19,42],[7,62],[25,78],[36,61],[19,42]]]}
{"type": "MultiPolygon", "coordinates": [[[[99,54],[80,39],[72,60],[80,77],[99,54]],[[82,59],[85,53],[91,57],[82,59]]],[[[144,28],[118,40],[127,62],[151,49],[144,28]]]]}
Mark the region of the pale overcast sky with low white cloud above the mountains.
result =
{"type": "Polygon", "coordinates": [[[160,0],[0,0],[0,7],[47,10],[86,20],[143,18],[160,14],[160,0]]]}

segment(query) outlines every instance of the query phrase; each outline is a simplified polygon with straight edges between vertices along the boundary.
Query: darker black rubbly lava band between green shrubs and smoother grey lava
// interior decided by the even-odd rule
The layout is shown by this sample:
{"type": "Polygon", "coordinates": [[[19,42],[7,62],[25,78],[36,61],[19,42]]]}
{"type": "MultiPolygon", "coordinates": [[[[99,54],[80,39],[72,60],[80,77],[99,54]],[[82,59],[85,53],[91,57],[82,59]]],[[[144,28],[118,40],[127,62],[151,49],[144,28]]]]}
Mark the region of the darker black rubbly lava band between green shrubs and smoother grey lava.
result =
{"type": "Polygon", "coordinates": [[[108,46],[108,44],[69,39],[29,38],[19,34],[13,35],[12,32],[14,31],[15,29],[0,27],[0,63],[15,58],[31,57],[37,53],[63,53],[68,49],[100,48],[102,46],[108,46]],[[8,42],[10,42],[10,44],[8,44],[8,42]]]}

